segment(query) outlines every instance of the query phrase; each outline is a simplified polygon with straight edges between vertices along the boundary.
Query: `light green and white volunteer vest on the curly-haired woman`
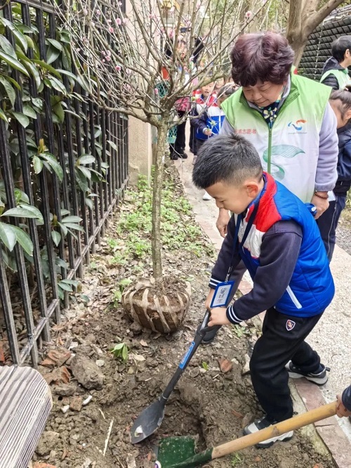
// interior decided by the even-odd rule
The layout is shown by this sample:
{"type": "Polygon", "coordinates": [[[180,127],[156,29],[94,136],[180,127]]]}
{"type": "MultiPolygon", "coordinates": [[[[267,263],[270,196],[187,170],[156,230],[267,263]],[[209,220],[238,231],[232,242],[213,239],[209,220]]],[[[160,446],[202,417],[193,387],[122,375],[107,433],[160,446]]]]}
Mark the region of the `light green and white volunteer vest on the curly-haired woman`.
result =
{"type": "Polygon", "coordinates": [[[250,108],[242,89],[222,104],[235,134],[255,146],[263,169],[303,202],[310,202],[314,193],[319,131],[330,93],[329,86],[291,74],[289,96],[272,129],[258,110],[250,108]]]}

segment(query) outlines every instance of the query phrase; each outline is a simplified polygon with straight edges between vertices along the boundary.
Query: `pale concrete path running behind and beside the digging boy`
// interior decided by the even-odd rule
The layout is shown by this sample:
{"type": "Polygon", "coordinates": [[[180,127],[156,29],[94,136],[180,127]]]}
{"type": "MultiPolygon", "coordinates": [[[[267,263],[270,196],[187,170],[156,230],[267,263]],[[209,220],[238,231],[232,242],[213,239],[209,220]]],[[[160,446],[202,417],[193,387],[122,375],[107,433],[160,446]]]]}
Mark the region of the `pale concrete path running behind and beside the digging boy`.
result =
{"type": "MultiPolygon", "coordinates": [[[[192,154],[188,152],[188,155],[187,160],[176,161],[176,167],[197,221],[216,249],[220,249],[222,238],[216,228],[216,203],[213,200],[202,200],[203,191],[192,185],[192,154]]],[[[351,256],[336,246],[331,269],[336,296],[307,340],[318,351],[322,362],[331,368],[329,382],[319,389],[305,379],[295,381],[308,410],[333,401],[336,394],[351,384],[351,256]]],[[[246,294],[251,285],[251,278],[246,273],[239,289],[246,294]]],[[[339,468],[351,468],[350,421],[333,417],[316,424],[316,429],[331,450],[336,465],[339,468]]]]}

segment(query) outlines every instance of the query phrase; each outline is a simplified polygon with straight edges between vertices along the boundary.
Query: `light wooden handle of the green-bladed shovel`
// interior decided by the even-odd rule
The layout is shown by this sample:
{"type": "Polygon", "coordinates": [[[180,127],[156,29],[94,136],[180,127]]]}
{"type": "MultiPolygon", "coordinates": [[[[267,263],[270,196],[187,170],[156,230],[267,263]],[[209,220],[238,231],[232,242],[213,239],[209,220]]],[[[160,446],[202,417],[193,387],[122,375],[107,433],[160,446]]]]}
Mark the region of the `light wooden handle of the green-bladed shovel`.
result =
{"type": "Polygon", "coordinates": [[[249,434],[249,436],[240,437],[234,441],[223,443],[222,446],[213,448],[212,460],[237,452],[237,450],[243,450],[244,448],[254,446],[256,443],[266,441],[268,438],[281,436],[286,432],[324,420],[326,417],[334,416],[336,415],[337,404],[337,401],[333,401],[333,403],[329,403],[328,405],[320,406],[315,410],[304,412],[302,415],[291,417],[289,420],[278,422],[274,424],[274,426],[261,429],[253,434],[249,434]]]}

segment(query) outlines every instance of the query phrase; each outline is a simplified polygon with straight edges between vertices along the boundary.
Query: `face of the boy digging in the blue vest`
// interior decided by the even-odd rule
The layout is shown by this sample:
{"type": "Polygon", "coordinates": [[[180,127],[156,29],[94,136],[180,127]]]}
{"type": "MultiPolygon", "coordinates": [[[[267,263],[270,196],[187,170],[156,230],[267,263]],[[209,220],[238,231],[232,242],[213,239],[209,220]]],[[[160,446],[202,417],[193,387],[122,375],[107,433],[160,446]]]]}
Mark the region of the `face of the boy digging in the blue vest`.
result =
{"type": "Polygon", "coordinates": [[[241,186],[227,182],[216,182],[213,186],[206,188],[206,192],[216,200],[218,208],[240,214],[255,200],[263,185],[262,179],[258,182],[254,178],[247,179],[241,186]]]}

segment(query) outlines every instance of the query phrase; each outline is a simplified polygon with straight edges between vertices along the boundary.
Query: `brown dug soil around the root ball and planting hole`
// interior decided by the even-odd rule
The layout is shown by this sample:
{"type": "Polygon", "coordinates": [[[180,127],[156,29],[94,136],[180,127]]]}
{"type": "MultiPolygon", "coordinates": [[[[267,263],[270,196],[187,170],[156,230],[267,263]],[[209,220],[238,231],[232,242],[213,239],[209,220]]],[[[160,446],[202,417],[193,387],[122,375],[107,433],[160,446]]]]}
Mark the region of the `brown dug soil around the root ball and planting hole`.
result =
{"type": "MultiPolygon", "coordinates": [[[[169,169],[168,178],[175,181],[174,196],[182,197],[176,171],[169,169]]],[[[126,201],[123,210],[133,209],[133,203],[126,201]]],[[[194,225],[191,218],[184,222],[194,225]]],[[[118,216],[110,223],[107,238],[117,237],[117,227],[118,216]]],[[[223,327],[215,344],[201,346],[192,359],[166,405],[160,429],[138,446],[131,445],[133,420],[161,394],[204,315],[215,257],[208,252],[205,235],[203,242],[200,257],[181,247],[175,252],[164,250],[165,275],[178,275],[192,284],[192,304],[185,321],[180,330],[166,337],[131,323],[116,295],[121,280],[135,278],[135,266],[139,275],[150,275],[150,257],[116,265],[110,261],[116,245],[102,242],[86,268],[77,302],[65,311],[62,325],[55,325],[53,341],[43,353],[46,360],[40,371],[51,384],[53,412],[34,462],[57,468],[153,468],[161,437],[193,435],[202,450],[240,437],[242,428],[262,415],[248,374],[249,355],[260,332],[253,323],[223,327]],[[128,346],[125,363],[110,353],[119,342],[128,346]]],[[[265,450],[248,448],[207,466],[316,465],[333,467],[331,459],[317,453],[312,441],[297,431],[289,442],[265,450]]]]}

